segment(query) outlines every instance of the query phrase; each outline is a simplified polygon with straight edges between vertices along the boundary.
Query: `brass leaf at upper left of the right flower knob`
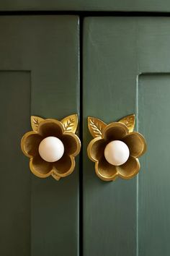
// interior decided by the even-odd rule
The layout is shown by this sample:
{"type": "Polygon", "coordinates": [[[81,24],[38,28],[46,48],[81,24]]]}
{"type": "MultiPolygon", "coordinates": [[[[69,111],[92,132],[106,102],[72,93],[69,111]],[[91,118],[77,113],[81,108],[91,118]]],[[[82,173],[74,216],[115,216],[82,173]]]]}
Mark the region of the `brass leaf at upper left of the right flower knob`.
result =
{"type": "Polygon", "coordinates": [[[107,124],[105,124],[104,121],[97,119],[95,117],[88,117],[89,132],[93,137],[102,136],[104,127],[106,126],[107,124]]]}

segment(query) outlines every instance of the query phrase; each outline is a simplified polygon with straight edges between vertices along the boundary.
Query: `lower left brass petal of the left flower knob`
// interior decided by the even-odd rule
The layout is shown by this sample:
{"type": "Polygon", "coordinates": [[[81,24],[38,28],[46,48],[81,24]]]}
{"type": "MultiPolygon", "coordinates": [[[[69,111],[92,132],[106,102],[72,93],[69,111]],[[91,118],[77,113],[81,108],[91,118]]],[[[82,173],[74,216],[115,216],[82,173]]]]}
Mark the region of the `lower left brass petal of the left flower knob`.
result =
{"type": "Polygon", "coordinates": [[[53,168],[53,164],[44,161],[40,155],[37,155],[35,158],[30,159],[30,169],[33,174],[40,178],[45,178],[50,176],[53,168]]]}

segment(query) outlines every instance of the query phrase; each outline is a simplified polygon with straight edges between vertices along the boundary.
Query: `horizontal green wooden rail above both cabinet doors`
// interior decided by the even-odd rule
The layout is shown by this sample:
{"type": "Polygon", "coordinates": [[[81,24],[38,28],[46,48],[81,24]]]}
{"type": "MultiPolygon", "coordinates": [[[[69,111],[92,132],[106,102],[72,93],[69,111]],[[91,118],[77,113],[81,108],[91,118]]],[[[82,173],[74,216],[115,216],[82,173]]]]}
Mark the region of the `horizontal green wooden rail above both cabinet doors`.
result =
{"type": "Polygon", "coordinates": [[[169,0],[1,0],[1,11],[143,11],[169,12],[169,0]]]}

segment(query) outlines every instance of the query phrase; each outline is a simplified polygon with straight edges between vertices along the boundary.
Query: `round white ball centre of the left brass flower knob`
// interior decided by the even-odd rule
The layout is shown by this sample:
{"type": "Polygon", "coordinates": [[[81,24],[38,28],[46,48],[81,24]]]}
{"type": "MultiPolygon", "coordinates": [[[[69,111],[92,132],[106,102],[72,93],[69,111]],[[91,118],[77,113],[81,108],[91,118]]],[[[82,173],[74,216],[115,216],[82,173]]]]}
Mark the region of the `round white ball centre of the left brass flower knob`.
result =
{"type": "Polygon", "coordinates": [[[40,142],[38,151],[45,161],[55,162],[62,158],[64,145],[57,137],[50,136],[40,142]]]}

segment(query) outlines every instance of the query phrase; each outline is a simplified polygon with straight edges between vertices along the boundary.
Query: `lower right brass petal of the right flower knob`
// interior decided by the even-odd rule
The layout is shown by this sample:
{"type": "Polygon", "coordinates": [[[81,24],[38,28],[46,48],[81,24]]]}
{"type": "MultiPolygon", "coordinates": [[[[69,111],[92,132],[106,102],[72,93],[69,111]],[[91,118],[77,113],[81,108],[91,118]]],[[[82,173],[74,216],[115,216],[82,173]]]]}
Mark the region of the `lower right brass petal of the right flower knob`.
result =
{"type": "Polygon", "coordinates": [[[122,179],[130,179],[138,174],[138,171],[140,169],[140,163],[138,161],[138,158],[130,156],[126,163],[122,164],[122,166],[116,166],[116,168],[119,176],[122,179]]]}

